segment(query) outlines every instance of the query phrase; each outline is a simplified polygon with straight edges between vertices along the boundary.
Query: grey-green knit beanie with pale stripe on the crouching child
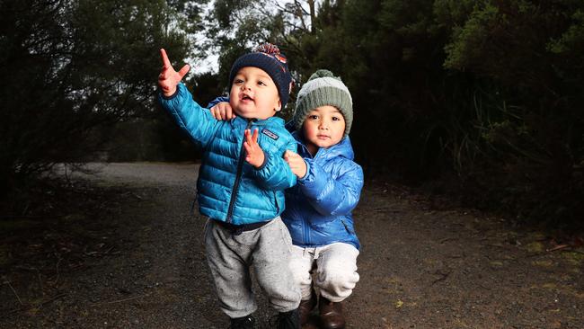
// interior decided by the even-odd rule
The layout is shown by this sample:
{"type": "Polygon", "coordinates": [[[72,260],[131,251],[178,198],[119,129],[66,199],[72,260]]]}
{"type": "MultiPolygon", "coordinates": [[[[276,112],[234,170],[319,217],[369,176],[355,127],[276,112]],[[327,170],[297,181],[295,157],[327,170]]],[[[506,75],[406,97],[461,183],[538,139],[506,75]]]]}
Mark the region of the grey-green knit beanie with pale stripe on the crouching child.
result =
{"type": "Polygon", "coordinates": [[[310,111],[324,105],[334,106],[341,111],[345,118],[344,136],[349,135],[353,123],[353,99],[341,78],[324,69],[316,70],[296,96],[296,110],[292,117],[296,130],[302,129],[310,111]]]}

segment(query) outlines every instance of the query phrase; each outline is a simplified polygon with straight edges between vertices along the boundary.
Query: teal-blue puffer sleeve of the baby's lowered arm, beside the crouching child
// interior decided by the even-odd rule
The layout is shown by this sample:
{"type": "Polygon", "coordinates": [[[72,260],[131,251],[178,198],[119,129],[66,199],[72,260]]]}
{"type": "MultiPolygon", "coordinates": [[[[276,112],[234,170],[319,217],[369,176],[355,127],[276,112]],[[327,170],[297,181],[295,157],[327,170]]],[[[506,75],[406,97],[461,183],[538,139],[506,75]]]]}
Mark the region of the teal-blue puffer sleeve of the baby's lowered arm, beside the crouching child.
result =
{"type": "Polygon", "coordinates": [[[284,160],[286,150],[296,152],[296,140],[292,137],[288,139],[286,147],[279,154],[268,154],[264,151],[265,160],[254,171],[256,180],[267,190],[285,190],[296,185],[296,175],[284,160]]]}

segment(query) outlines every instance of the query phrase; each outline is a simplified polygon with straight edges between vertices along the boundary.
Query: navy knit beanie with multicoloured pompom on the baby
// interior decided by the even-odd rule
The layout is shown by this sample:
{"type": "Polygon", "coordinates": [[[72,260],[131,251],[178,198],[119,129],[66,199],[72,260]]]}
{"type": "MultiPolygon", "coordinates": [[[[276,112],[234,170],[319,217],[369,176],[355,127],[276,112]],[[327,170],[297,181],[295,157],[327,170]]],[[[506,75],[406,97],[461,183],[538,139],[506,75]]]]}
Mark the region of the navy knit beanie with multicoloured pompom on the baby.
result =
{"type": "Polygon", "coordinates": [[[242,67],[258,67],[264,70],[276,84],[278,88],[279,101],[282,102],[282,109],[286,107],[290,90],[292,89],[292,76],[288,70],[286,56],[279,52],[277,46],[271,43],[264,43],[251,53],[247,53],[237,58],[229,73],[229,85],[234,82],[234,77],[242,67]]]}

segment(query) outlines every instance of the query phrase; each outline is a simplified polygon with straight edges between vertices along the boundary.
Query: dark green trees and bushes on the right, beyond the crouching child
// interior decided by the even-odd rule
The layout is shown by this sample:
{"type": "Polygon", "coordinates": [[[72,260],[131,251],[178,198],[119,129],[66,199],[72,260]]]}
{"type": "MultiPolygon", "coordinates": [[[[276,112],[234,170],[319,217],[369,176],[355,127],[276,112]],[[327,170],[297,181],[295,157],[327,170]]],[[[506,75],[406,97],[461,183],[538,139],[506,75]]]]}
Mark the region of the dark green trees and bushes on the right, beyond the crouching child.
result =
{"type": "MultiPolygon", "coordinates": [[[[246,10],[257,4],[265,3],[246,10]]],[[[318,4],[314,16],[256,11],[263,24],[239,25],[248,33],[230,42],[281,42],[300,84],[320,67],[340,75],[353,94],[351,139],[368,175],[426,182],[455,174],[474,206],[555,224],[581,217],[584,3],[318,4]],[[278,38],[275,30],[302,16],[310,29],[278,38]]]]}

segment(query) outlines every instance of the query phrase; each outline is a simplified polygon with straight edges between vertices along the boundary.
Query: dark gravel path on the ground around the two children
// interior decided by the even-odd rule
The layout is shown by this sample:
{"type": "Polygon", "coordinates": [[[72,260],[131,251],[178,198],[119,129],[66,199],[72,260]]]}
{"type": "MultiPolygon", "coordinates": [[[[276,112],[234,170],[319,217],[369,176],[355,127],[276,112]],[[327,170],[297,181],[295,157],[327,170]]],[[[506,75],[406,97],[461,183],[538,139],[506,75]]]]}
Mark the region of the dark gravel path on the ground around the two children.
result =
{"type": "MultiPolygon", "coordinates": [[[[111,164],[90,177],[102,212],[5,229],[0,328],[226,327],[204,220],[190,215],[196,173],[192,164],[111,164]]],[[[367,183],[355,211],[363,247],[349,328],[584,328],[584,250],[548,252],[542,234],[416,199],[367,183]]],[[[269,328],[273,313],[259,299],[269,328]]]]}

